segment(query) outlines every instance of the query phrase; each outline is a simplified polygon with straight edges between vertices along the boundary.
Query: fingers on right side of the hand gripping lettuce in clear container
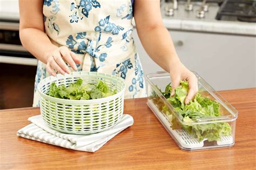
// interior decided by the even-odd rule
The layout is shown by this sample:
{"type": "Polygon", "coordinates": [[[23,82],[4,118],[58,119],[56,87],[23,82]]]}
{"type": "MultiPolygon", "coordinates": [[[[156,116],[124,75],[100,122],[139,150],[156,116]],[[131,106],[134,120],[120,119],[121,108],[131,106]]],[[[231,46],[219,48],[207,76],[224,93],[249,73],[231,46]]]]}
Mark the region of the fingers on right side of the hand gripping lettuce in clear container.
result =
{"type": "Polygon", "coordinates": [[[198,92],[198,84],[197,84],[197,77],[194,76],[194,74],[190,77],[188,77],[188,86],[190,90],[187,93],[187,97],[185,99],[185,104],[188,104],[190,100],[193,99],[193,97],[198,92]]]}

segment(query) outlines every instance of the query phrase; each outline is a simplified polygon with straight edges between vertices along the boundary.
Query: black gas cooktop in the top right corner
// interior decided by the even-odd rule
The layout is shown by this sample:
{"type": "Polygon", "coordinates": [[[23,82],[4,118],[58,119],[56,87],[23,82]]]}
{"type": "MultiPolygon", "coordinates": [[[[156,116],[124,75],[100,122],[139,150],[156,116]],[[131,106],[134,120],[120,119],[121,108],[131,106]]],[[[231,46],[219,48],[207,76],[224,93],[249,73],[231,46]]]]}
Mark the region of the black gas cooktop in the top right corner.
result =
{"type": "Polygon", "coordinates": [[[256,22],[255,0],[225,0],[216,16],[217,20],[256,22]]]}

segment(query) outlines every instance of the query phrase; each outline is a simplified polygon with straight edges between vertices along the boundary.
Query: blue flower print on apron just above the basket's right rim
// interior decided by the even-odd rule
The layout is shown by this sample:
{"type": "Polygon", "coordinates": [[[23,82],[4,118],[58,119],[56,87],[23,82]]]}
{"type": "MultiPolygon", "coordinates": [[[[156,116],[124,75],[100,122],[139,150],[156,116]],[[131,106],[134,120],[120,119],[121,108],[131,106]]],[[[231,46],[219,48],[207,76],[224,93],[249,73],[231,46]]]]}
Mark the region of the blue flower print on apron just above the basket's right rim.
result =
{"type": "Polygon", "coordinates": [[[117,64],[116,69],[113,70],[112,74],[117,75],[117,74],[121,73],[120,77],[125,79],[128,69],[132,69],[132,67],[133,67],[133,65],[131,63],[131,59],[130,58],[126,59],[124,62],[117,64]],[[118,68],[119,68],[119,70],[118,70],[118,68]]]}

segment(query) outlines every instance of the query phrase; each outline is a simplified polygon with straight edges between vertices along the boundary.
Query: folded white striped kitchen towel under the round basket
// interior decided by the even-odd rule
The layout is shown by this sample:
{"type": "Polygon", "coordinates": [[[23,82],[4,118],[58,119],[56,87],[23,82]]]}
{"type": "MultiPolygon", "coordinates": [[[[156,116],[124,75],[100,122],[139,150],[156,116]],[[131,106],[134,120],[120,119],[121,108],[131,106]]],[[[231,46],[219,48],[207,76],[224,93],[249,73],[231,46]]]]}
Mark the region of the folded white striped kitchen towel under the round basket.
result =
{"type": "Polygon", "coordinates": [[[46,144],[57,145],[78,151],[95,152],[115,135],[133,125],[133,118],[124,114],[120,122],[109,130],[89,134],[76,135],[66,134],[51,129],[43,120],[41,115],[28,119],[32,124],[23,127],[17,132],[18,137],[45,142],[46,144]]]}

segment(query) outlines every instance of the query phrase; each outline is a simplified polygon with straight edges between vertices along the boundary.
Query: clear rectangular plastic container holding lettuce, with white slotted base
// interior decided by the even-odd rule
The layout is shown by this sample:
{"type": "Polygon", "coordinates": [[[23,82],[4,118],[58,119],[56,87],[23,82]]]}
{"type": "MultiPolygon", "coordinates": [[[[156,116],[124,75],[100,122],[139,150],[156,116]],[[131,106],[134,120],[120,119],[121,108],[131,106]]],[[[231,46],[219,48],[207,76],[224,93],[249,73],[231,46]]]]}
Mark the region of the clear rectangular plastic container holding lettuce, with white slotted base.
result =
{"type": "Polygon", "coordinates": [[[160,92],[160,90],[165,91],[165,87],[171,83],[170,74],[167,72],[157,72],[146,76],[147,105],[161,124],[163,124],[167,132],[169,132],[173,140],[183,150],[196,151],[199,149],[233,146],[235,141],[235,121],[238,117],[238,111],[196,72],[193,73],[198,78],[198,92],[201,96],[210,98],[220,104],[220,116],[196,118],[192,119],[193,121],[191,122],[184,121],[183,116],[174,109],[160,92]],[[163,106],[165,106],[165,110],[163,110],[163,106]],[[212,134],[217,134],[219,138],[212,138],[212,134]],[[209,139],[200,138],[207,136],[209,139]]]}

